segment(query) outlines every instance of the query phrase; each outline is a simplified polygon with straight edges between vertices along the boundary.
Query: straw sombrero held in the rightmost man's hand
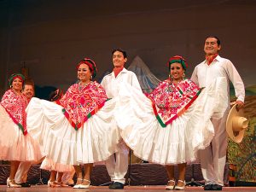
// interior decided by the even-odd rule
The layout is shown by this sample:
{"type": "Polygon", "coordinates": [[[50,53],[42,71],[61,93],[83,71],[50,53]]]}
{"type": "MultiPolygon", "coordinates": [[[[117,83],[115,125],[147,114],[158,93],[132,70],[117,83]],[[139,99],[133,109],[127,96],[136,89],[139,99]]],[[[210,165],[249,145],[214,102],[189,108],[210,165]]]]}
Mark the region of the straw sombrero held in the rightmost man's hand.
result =
{"type": "Polygon", "coordinates": [[[244,131],[248,126],[248,119],[243,117],[243,109],[240,109],[239,111],[236,110],[236,105],[230,109],[226,122],[226,131],[234,142],[241,143],[244,131]]]}

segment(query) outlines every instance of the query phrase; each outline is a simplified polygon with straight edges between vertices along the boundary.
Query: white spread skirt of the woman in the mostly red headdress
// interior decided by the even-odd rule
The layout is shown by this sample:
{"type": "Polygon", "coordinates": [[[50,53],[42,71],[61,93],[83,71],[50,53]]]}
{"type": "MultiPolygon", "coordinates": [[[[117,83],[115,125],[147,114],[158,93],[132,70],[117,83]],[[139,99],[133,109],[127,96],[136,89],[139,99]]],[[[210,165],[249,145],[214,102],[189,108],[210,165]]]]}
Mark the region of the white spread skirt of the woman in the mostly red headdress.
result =
{"type": "Polygon", "coordinates": [[[107,160],[115,152],[118,132],[112,99],[76,131],[54,102],[32,98],[26,108],[27,131],[56,164],[79,165],[107,160]]]}

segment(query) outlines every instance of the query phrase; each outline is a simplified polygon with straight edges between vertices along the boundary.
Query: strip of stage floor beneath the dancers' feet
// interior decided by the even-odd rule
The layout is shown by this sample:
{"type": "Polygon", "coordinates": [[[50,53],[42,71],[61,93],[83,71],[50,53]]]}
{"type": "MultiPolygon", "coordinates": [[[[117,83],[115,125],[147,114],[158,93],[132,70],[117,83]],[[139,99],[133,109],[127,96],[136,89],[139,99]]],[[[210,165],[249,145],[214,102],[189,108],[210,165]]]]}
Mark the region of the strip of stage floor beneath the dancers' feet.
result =
{"type": "MultiPolygon", "coordinates": [[[[201,192],[204,191],[201,187],[187,187],[186,191],[201,192]]],[[[108,186],[90,186],[90,189],[73,189],[71,187],[65,188],[49,188],[47,185],[32,185],[31,188],[7,188],[5,185],[0,185],[0,192],[64,192],[64,191],[75,191],[75,192],[166,192],[165,186],[163,185],[148,185],[148,186],[125,186],[125,189],[108,189],[108,186]]],[[[241,192],[253,192],[256,191],[256,187],[224,187],[223,191],[241,191],[241,192]]]]}

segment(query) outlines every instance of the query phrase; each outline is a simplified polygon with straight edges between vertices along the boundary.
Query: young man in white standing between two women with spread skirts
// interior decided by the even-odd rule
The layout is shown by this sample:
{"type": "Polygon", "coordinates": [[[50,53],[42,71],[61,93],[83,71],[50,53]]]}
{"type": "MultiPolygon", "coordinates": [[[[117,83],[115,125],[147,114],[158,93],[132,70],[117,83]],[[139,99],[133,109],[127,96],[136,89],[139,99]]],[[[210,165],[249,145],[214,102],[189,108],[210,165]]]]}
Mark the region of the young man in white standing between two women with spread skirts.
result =
{"type": "MultiPolygon", "coordinates": [[[[118,95],[119,84],[121,82],[131,84],[131,86],[141,90],[136,74],[128,71],[124,67],[127,61],[125,50],[113,49],[112,55],[113,72],[106,75],[101,83],[106,90],[108,98],[113,98],[118,95]]],[[[117,152],[106,160],[108,174],[112,181],[109,185],[109,189],[124,189],[125,174],[128,170],[128,154],[129,149],[126,147],[124,141],[121,140],[117,145],[117,152]]]]}

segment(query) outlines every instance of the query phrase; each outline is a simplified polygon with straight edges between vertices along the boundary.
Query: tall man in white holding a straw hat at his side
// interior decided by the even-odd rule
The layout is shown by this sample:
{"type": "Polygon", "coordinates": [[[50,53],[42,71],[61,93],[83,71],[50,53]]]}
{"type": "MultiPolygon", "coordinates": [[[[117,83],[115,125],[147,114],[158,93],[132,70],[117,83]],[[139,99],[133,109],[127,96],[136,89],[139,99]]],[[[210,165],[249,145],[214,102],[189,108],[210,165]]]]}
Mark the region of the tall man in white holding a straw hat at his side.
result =
{"type": "MultiPolygon", "coordinates": [[[[218,77],[225,77],[228,81],[228,94],[230,95],[229,83],[231,81],[235,87],[237,108],[244,108],[244,84],[233,63],[218,55],[220,49],[220,40],[217,37],[209,36],[206,38],[204,44],[206,60],[195,67],[191,80],[200,87],[206,87],[212,80],[218,77]]],[[[230,97],[228,96],[228,98],[230,97]]],[[[228,146],[225,127],[230,111],[230,99],[223,102],[227,102],[227,106],[229,107],[226,109],[222,118],[212,118],[215,136],[212,139],[211,145],[200,151],[201,172],[205,179],[205,190],[222,190],[224,186],[224,166],[228,146]]]]}

